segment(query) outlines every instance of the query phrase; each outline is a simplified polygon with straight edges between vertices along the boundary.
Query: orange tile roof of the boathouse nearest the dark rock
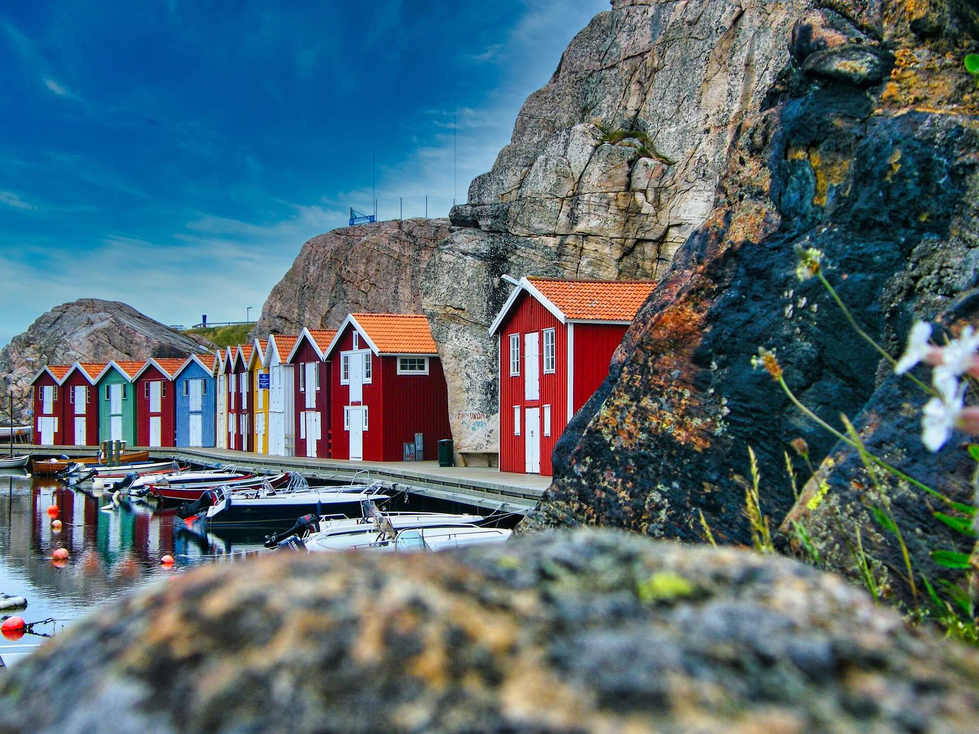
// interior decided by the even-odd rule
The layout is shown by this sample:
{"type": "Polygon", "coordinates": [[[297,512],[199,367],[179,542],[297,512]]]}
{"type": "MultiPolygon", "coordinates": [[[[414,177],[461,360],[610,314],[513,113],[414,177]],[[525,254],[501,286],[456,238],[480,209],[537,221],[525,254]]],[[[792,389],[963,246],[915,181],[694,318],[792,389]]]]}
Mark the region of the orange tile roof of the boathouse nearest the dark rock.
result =
{"type": "Polygon", "coordinates": [[[656,283],[528,278],[531,284],[570,319],[631,321],[656,283]]]}

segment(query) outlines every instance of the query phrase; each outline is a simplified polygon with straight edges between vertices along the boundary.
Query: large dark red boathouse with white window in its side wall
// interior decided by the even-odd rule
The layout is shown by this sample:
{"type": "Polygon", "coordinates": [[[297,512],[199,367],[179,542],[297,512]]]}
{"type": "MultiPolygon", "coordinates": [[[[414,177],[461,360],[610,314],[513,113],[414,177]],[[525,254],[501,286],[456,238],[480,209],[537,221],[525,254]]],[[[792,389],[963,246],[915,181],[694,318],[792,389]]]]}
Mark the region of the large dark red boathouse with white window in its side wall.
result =
{"type": "Polygon", "coordinates": [[[442,361],[425,316],[352,313],[324,355],[331,370],[332,456],[400,461],[423,436],[426,456],[451,436],[442,361]]]}

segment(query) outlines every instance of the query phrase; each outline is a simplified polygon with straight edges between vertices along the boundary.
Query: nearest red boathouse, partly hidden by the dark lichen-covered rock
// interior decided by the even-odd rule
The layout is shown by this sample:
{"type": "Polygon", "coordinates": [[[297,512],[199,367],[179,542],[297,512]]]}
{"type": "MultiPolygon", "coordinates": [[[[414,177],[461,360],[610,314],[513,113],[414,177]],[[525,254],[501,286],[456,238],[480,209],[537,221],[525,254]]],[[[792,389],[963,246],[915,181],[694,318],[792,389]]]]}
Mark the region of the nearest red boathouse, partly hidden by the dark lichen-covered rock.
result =
{"type": "Polygon", "coordinates": [[[552,475],[565,427],[608,376],[650,281],[521,278],[489,333],[499,339],[499,469],[552,475]]]}

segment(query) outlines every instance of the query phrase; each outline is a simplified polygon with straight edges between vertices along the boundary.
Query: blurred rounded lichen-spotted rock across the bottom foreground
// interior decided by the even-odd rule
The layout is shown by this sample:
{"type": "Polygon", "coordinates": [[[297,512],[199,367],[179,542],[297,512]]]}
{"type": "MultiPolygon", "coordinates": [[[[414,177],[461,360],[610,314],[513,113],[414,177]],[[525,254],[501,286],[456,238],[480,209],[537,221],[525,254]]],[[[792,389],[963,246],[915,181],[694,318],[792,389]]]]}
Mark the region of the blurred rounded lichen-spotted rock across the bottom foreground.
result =
{"type": "Polygon", "coordinates": [[[797,562],[588,530],[188,573],[0,701],[11,734],[966,734],[979,657],[797,562]]]}

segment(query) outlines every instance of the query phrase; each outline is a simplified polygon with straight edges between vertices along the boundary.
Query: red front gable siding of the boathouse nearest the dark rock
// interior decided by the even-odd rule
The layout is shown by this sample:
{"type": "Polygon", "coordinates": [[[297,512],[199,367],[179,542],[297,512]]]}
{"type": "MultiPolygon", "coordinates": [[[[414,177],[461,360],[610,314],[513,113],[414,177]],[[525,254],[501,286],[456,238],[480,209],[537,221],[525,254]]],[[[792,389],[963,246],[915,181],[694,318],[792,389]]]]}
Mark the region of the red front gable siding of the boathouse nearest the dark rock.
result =
{"type": "Polygon", "coordinates": [[[540,408],[540,474],[552,475],[551,454],[558,437],[568,425],[568,330],[536,298],[521,294],[499,328],[499,469],[501,472],[527,471],[525,414],[528,407],[540,408]],[[543,371],[543,331],[554,329],[555,371],[543,371]],[[540,397],[525,397],[527,363],[525,336],[538,335],[537,374],[540,397]],[[520,374],[510,375],[510,335],[520,335],[520,374]],[[514,406],[520,406],[520,436],[514,436],[514,406]],[[544,405],[550,405],[550,436],[544,436],[544,405]]]}

